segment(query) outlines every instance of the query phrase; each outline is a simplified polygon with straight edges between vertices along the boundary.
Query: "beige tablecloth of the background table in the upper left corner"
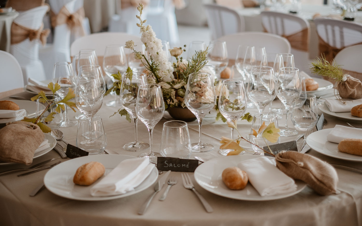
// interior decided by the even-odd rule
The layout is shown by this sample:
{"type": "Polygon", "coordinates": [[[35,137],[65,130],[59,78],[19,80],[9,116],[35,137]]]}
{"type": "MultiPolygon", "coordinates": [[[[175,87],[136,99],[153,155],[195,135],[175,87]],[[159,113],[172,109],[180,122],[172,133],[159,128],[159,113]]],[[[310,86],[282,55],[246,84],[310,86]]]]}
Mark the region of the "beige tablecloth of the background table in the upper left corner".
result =
{"type": "Polygon", "coordinates": [[[18,12],[0,15],[0,50],[10,51],[11,25],[18,12]]]}

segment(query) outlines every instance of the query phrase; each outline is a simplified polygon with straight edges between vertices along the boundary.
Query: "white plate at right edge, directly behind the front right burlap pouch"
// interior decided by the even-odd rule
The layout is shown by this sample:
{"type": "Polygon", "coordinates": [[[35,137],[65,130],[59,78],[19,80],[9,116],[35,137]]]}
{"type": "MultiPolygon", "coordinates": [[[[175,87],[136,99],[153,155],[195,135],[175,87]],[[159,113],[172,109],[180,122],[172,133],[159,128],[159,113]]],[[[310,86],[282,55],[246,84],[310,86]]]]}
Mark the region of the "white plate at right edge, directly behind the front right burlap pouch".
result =
{"type": "Polygon", "coordinates": [[[322,129],[311,133],[306,139],[307,145],[313,150],[316,150],[316,152],[324,155],[348,161],[362,162],[362,156],[340,152],[338,151],[337,143],[327,141],[327,135],[332,131],[332,129],[333,128],[322,129]]]}

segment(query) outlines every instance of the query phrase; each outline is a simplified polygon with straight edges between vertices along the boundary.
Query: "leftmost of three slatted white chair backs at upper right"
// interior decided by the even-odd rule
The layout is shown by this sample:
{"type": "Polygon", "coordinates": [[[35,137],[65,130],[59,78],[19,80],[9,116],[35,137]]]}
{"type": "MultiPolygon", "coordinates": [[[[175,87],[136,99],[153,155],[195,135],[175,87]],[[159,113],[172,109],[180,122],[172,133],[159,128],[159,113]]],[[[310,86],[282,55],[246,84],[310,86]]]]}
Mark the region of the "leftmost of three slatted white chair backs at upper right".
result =
{"type": "Polygon", "coordinates": [[[245,31],[244,17],[235,10],[217,4],[205,4],[212,40],[245,31]]]}

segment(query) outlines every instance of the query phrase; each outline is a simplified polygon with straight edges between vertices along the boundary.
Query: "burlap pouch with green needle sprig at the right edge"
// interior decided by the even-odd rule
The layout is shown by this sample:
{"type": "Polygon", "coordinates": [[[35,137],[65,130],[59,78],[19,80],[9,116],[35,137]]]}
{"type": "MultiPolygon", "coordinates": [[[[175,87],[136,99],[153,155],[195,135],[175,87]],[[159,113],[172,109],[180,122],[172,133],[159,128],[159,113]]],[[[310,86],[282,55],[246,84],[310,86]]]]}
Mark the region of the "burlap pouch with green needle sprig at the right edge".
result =
{"type": "Polygon", "coordinates": [[[362,83],[357,78],[345,74],[343,76],[343,82],[337,84],[337,90],[341,98],[362,98],[362,83]]]}

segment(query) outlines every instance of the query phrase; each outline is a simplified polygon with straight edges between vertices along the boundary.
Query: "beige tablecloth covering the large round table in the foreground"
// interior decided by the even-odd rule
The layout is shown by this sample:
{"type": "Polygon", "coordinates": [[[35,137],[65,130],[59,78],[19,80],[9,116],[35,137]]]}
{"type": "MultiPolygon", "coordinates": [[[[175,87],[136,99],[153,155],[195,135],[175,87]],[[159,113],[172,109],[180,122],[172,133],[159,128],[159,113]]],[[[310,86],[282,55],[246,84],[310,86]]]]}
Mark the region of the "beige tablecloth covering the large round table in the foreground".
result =
{"type": "MultiPolygon", "coordinates": [[[[19,94],[24,95],[24,94],[19,94]]],[[[26,94],[31,97],[31,94],[26,94]]],[[[106,97],[105,102],[112,97],[106,97]]],[[[280,105],[274,101],[273,107],[280,105]]],[[[102,116],[107,134],[107,149],[119,154],[138,156],[140,152],[127,152],[122,146],[134,139],[134,125],[118,114],[110,117],[117,108],[107,107],[105,104],[98,111],[102,116]]],[[[71,111],[69,111],[71,112],[71,111]]],[[[256,109],[247,109],[247,112],[255,113],[256,109]]],[[[74,115],[70,113],[71,116],[74,115]]],[[[169,115],[156,125],[153,140],[155,150],[160,148],[162,125],[169,115]]],[[[325,128],[332,128],[336,123],[347,125],[345,121],[336,120],[326,115],[328,124],[325,128]]],[[[283,119],[279,120],[279,126],[283,127],[283,119]]],[[[292,126],[292,124],[291,124],[292,126]]],[[[239,121],[238,128],[241,133],[249,133],[251,123],[239,121]]],[[[140,141],[148,142],[146,127],[140,122],[138,125],[140,141]]],[[[76,127],[61,128],[65,133],[65,139],[75,145],[76,127]]],[[[197,122],[189,123],[191,142],[198,140],[197,122]]],[[[225,123],[214,122],[213,119],[205,119],[203,122],[203,141],[215,146],[208,153],[192,153],[194,156],[205,158],[221,157],[218,153],[219,139],[221,136],[230,136],[230,128],[225,123]]],[[[294,137],[282,137],[281,142],[291,141],[294,137]]],[[[301,141],[301,140],[300,140],[301,141]]],[[[250,146],[244,142],[243,146],[250,146]]],[[[142,152],[141,152],[142,153],[142,152]]],[[[316,156],[323,161],[340,163],[362,168],[361,163],[341,161],[327,157],[310,150],[308,154],[316,156]]],[[[42,157],[34,159],[34,164],[59,155],[52,150],[42,157]]],[[[68,159],[62,159],[67,161],[68,159]]],[[[0,166],[0,171],[15,168],[17,166],[0,166]]],[[[140,206],[153,192],[153,186],[136,195],[109,201],[75,201],[56,196],[47,189],[41,191],[35,197],[29,197],[29,193],[43,180],[47,170],[35,174],[17,177],[19,172],[0,175],[0,222],[1,225],[154,225],[154,226],[185,226],[185,225],[255,225],[255,226],[341,226],[362,225],[362,174],[352,171],[337,169],[339,176],[338,195],[320,196],[311,188],[306,187],[302,192],[281,200],[274,201],[241,201],[233,200],[202,189],[189,173],[195,188],[210,203],[214,212],[206,213],[195,194],[182,186],[180,172],[171,172],[178,177],[178,183],[171,188],[165,201],[158,201],[166,186],[163,187],[152,201],[147,212],[140,216],[137,214],[140,206]]]]}

